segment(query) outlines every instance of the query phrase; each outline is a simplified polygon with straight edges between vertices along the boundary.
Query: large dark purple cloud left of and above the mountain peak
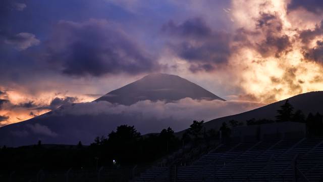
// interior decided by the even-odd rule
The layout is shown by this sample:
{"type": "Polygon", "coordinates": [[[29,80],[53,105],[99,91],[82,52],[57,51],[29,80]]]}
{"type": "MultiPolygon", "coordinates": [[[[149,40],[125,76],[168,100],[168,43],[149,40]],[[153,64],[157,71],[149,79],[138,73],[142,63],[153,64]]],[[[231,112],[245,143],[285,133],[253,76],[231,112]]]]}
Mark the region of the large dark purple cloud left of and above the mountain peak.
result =
{"type": "Polygon", "coordinates": [[[133,37],[105,20],[60,21],[47,48],[50,62],[67,75],[137,74],[160,69],[133,37]]]}

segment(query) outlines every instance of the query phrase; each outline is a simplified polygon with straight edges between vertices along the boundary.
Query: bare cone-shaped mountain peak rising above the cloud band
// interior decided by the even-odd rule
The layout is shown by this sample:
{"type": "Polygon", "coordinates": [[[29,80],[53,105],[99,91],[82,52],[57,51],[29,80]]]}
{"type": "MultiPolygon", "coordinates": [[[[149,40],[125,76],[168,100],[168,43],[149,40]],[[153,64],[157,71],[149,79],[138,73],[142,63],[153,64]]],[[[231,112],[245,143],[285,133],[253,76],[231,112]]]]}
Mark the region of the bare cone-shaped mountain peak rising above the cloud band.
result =
{"type": "Polygon", "coordinates": [[[140,80],[113,90],[95,101],[131,105],[142,100],[172,102],[184,98],[225,101],[184,78],[163,73],[147,75],[140,80]]]}

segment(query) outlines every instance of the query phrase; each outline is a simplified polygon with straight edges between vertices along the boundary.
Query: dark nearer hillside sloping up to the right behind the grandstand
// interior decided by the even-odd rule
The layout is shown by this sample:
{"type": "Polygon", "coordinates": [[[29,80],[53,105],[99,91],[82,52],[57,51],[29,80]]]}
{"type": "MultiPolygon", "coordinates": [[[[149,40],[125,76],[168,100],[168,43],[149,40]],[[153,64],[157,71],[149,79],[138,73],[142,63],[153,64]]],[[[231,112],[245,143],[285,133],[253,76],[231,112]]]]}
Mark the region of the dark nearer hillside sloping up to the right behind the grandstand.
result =
{"type": "MultiPolygon", "coordinates": [[[[323,114],[323,91],[318,92],[309,92],[305,94],[300,94],[288,99],[292,106],[294,107],[294,111],[301,110],[307,116],[308,113],[316,113],[319,112],[323,114]]],[[[281,105],[285,103],[285,100],[269,104],[251,111],[247,111],[244,113],[221,117],[217,119],[210,120],[204,124],[206,128],[217,128],[221,126],[223,122],[227,122],[230,120],[237,120],[245,122],[248,119],[275,119],[277,115],[277,110],[281,105]]]]}

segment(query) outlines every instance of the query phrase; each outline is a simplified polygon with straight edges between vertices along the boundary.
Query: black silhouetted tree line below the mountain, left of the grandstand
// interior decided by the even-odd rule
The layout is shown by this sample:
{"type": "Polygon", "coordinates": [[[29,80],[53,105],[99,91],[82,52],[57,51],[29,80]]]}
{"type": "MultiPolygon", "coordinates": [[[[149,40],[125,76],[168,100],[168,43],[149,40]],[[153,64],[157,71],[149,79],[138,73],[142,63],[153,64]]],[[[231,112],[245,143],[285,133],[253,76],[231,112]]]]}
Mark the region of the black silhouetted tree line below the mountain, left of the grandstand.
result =
{"type": "MultiPolygon", "coordinates": [[[[142,135],[134,126],[120,125],[106,136],[96,137],[90,146],[78,142],[74,146],[44,145],[18,148],[0,147],[0,171],[40,169],[89,169],[98,166],[147,165],[172,154],[188,143],[219,138],[214,129],[205,131],[204,121],[193,121],[183,136],[171,127],[159,133],[142,135]]],[[[1,172],[0,172],[1,174],[1,172]]]]}

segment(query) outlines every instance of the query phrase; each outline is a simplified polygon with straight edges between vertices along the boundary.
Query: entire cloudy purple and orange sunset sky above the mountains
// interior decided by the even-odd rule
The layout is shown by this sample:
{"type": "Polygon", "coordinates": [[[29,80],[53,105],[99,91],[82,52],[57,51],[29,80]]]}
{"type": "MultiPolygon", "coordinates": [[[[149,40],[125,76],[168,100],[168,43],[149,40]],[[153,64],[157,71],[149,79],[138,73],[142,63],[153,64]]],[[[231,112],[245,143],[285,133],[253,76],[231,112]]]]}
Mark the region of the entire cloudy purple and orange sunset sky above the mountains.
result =
{"type": "Polygon", "coordinates": [[[314,0],[2,0],[0,126],[157,72],[257,106],[323,90],[322,20],[314,0]]]}

